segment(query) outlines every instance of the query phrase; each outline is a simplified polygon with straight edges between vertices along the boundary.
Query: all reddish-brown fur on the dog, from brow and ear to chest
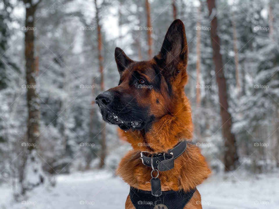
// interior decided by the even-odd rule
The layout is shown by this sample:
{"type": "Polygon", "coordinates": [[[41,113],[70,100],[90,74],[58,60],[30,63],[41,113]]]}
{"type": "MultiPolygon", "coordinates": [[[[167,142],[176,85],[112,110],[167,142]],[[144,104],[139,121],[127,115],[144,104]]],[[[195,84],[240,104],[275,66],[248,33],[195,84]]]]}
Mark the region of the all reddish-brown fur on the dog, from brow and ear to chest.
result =
{"type": "MultiPolygon", "coordinates": [[[[176,23],[183,25],[180,22],[177,21],[176,23]]],[[[152,127],[146,132],[137,130],[123,132],[133,150],[129,151],[121,160],[117,174],[130,186],[141,190],[151,190],[150,173],[152,169],[142,164],[139,151],[166,152],[181,140],[190,141],[192,139],[191,107],[184,93],[184,85],[187,82],[187,40],[184,25],[182,29],[184,31],[182,41],[184,47],[181,51],[179,50],[179,53],[185,55],[184,59],[178,63],[177,73],[169,80],[172,87],[172,96],[169,96],[167,92],[167,82],[164,79],[161,82],[161,91],[142,89],[137,93],[136,100],[142,107],[149,107],[150,112],[155,116],[152,127]],[[156,100],[159,100],[159,102],[156,102],[156,100]],[[147,143],[151,144],[151,146],[138,146],[138,143],[147,143]]],[[[155,58],[160,60],[161,54],[159,53],[155,58]]],[[[120,89],[128,93],[133,91],[128,85],[132,71],[136,69],[143,72],[152,68],[153,64],[156,64],[154,58],[150,61],[138,62],[133,65],[132,69],[128,67],[128,70],[125,70],[121,75],[123,82],[115,88],[118,91],[120,89]]],[[[150,77],[148,79],[152,80],[150,77]]],[[[188,143],[186,151],[174,161],[174,168],[160,172],[159,178],[162,184],[162,191],[180,189],[189,191],[202,183],[208,174],[210,174],[210,170],[200,150],[192,143],[188,143]]],[[[200,201],[201,196],[196,190],[185,208],[202,208],[200,201]]],[[[125,208],[134,209],[129,196],[127,197],[125,208]]]]}

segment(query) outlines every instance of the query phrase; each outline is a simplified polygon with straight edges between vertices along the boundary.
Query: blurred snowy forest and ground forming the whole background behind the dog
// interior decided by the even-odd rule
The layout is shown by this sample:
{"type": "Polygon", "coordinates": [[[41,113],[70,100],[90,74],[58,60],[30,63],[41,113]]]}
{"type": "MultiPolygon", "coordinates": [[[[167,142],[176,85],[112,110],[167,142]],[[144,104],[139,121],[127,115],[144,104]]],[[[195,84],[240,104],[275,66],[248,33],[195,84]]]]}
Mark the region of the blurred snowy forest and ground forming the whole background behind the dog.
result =
{"type": "Polygon", "coordinates": [[[212,171],[203,208],[278,208],[277,0],[0,0],[0,208],[124,208],[131,149],[96,96],[115,47],[157,55],[185,24],[192,141],[212,171]]]}

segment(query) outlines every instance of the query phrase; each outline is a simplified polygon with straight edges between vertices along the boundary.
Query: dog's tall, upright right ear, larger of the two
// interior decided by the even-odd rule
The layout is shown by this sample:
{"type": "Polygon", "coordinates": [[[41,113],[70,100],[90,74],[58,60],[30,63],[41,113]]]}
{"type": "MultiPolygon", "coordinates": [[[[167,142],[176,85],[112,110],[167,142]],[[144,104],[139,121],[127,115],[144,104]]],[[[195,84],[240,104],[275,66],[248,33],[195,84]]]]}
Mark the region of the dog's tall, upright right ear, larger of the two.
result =
{"type": "Polygon", "coordinates": [[[180,19],[176,19],[169,26],[161,51],[154,59],[163,69],[162,75],[167,80],[171,80],[179,73],[185,74],[182,75],[183,77],[186,76],[187,58],[188,48],[185,27],[180,19]]]}

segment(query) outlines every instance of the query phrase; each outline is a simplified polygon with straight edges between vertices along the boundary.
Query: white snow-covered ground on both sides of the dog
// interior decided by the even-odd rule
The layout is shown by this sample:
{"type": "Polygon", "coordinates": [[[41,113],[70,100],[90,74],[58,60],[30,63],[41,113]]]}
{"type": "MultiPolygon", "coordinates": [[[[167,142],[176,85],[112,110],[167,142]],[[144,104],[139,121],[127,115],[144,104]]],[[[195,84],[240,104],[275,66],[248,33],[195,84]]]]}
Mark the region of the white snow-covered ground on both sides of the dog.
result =
{"type": "MultiPolygon", "coordinates": [[[[279,208],[279,176],[230,174],[211,176],[198,186],[203,208],[257,209],[279,208]]],[[[56,185],[46,183],[28,192],[18,202],[12,198],[12,186],[0,185],[1,209],[123,209],[129,186],[107,170],[59,175],[56,185]]]]}

